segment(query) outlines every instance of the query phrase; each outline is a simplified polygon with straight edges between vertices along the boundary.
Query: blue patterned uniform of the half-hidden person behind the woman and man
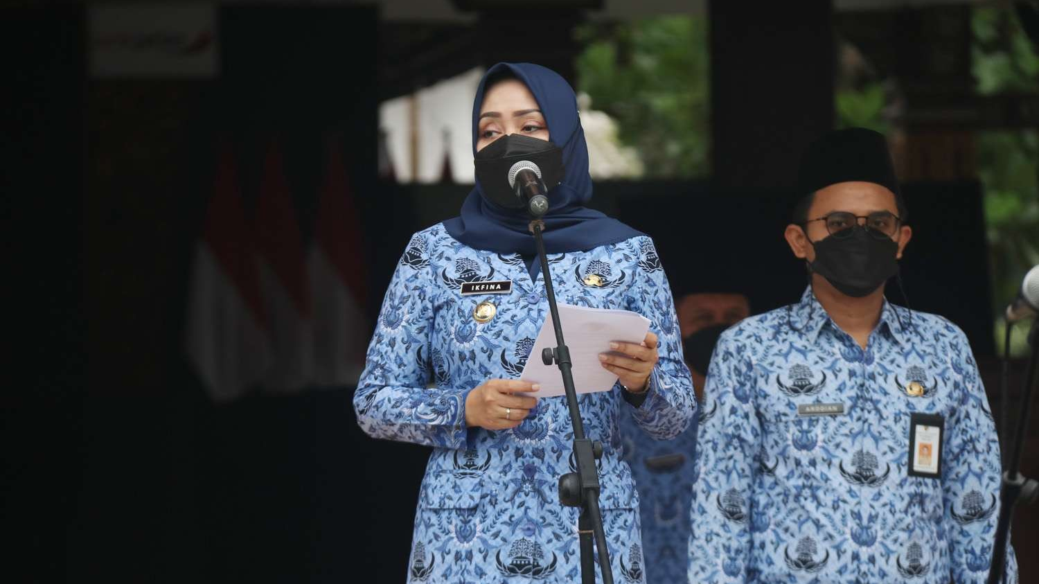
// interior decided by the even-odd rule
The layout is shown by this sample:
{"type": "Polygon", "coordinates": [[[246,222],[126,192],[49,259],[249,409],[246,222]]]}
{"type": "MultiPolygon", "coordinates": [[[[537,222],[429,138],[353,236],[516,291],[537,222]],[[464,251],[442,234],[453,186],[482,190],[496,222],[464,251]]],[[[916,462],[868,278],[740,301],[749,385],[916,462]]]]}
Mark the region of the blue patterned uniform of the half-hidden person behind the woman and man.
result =
{"type": "MultiPolygon", "coordinates": [[[[702,413],[702,412],[701,412],[702,413]]],[[[624,460],[639,492],[646,584],[686,581],[689,569],[689,501],[696,481],[697,417],[671,440],[644,440],[628,410],[620,416],[624,460]]]]}

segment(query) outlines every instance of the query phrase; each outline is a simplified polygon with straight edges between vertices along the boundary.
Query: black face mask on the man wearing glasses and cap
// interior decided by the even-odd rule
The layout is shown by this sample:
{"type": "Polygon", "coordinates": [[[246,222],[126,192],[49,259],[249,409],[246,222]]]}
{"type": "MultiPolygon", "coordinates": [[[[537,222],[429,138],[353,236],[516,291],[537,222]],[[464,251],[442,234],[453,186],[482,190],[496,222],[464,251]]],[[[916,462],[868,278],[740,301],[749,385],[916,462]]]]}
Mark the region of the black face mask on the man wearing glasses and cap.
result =
{"type": "Polygon", "coordinates": [[[808,270],[826,278],[842,294],[868,296],[899,271],[899,244],[891,238],[875,237],[867,228],[855,225],[847,237],[832,235],[812,243],[816,261],[808,270]]]}

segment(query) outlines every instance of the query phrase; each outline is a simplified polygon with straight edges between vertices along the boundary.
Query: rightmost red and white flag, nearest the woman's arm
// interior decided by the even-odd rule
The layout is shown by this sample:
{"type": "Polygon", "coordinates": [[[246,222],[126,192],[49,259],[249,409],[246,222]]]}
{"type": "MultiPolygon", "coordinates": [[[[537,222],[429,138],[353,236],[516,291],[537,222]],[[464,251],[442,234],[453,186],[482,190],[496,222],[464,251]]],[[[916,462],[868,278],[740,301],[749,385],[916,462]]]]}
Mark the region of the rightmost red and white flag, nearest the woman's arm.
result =
{"type": "Polygon", "coordinates": [[[309,258],[315,379],[322,386],[353,386],[371,334],[364,312],[364,238],[337,139],[328,140],[326,158],[309,258]]]}

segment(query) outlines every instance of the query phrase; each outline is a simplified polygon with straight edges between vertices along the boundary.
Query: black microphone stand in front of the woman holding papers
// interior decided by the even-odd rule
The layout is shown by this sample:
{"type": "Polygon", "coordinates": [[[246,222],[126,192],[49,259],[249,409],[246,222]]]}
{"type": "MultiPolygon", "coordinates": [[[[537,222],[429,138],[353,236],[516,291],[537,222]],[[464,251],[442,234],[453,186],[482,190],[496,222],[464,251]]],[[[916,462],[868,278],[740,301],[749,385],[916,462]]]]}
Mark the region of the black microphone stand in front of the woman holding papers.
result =
{"type": "Polygon", "coordinates": [[[549,273],[549,258],[544,253],[544,221],[539,217],[548,211],[548,206],[529,206],[531,215],[535,217],[530,222],[530,232],[534,234],[534,244],[541,261],[541,275],[544,276],[544,292],[549,297],[549,311],[552,313],[552,324],[556,329],[556,348],[541,351],[541,361],[545,365],[555,363],[563,376],[563,389],[566,391],[566,404],[570,409],[570,424],[574,425],[574,454],[578,471],[566,473],[559,477],[559,502],[567,507],[580,507],[578,516],[578,537],[581,543],[581,582],[595,583],[595,559],[592,548],[598,549],[598,565],[603,570],[603,584],[613,584],[613,569],[610,566],[610,552],[606,547],[606,530],[603,529],[603,513],[598,508],[598,471],[595,460],[603,456],[603,445],[598,441],[585,437],[584,424],[581,421],[581,409],[578,406],[577,391],[574,389],[574,374],[570,371],[570,351],[563,341],[563,327],[559,322],[559,308],[556,306],[556,292],[552,288],[552,274],[549,273]],[[540,212],[538,212],[540,211],[540,212]]]}

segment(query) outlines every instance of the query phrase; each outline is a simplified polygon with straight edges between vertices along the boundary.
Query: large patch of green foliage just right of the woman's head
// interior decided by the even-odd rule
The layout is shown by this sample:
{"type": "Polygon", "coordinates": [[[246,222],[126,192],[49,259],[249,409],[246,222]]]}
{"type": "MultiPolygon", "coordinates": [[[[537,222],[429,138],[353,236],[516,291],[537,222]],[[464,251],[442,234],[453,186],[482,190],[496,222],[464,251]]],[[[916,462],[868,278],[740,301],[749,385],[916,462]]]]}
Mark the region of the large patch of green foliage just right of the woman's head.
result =
{"type": "Polygon", "coordinates": [[[710,78],[703,16],[638,19],[577,30],[578,89],[617,121],[647,178],[710,174],[710,78]]]}

